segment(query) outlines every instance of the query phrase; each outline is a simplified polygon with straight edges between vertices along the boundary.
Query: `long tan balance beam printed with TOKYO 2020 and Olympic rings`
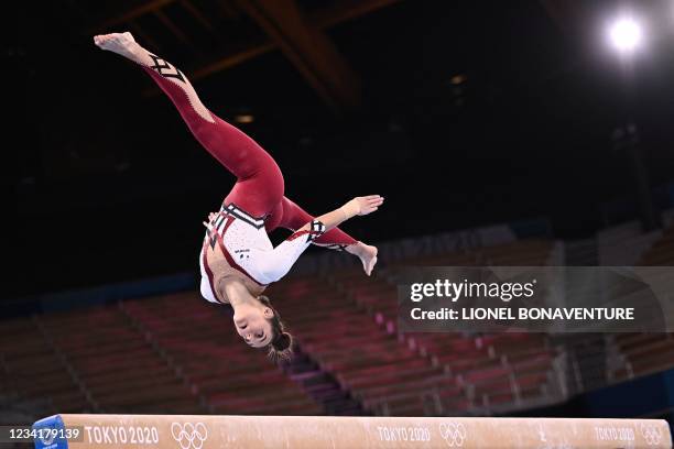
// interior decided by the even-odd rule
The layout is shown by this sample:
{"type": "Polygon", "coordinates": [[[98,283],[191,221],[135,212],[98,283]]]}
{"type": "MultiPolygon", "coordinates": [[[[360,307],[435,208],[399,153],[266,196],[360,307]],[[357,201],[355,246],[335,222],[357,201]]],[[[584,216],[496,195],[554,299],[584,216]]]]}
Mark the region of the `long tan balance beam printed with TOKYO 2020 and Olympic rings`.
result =
{"type": "Polygon", "coordinates": [[[33,429],[36,449],[672,448],[661,419],[54,415],[33,429]]]}

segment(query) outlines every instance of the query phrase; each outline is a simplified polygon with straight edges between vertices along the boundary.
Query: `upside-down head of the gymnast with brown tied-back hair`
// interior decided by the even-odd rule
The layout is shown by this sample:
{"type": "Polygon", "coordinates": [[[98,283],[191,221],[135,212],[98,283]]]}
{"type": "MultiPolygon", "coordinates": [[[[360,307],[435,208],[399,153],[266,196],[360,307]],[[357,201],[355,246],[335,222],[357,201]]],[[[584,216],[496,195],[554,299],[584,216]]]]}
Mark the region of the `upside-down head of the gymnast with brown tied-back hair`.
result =
{"type": "Polygon", "coordinates": [[[253,297],[235,308],[237,332],[252,348],[265,349],[274,361],[289,360],[292,336],[285,331],[281,316],[267,296],[253,297]]]}

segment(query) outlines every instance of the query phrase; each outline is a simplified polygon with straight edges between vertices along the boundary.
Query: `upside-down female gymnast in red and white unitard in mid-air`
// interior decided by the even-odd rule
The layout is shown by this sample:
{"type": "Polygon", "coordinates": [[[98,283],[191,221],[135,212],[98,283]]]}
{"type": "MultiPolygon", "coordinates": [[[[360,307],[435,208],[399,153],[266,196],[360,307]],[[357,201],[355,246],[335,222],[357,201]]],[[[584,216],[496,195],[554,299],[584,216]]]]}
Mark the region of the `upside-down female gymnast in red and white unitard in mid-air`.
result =
{"type": "Polygon", "coordinates": [[[269,153],[210,112],[175,66],[140,46],[128,32],[97,35],[94,43],[138,63],[171,98],[199,143],[237,177],[219,211],[204,222],[202,295],[211,303],[231,305],[237,332],[246,343],[267,348],[274,359],[289,358],[292,338],[262,292],[283,277],[311,243],[357,255],[369,276],[377,263],[377,248],[355,240],[337,226],[373,212],[383,197],[356,197],[313,218],[283,195],[283,175],[269,153]],[[267,232],[278,227],[293,233],[273,248],[267,232]]]}

